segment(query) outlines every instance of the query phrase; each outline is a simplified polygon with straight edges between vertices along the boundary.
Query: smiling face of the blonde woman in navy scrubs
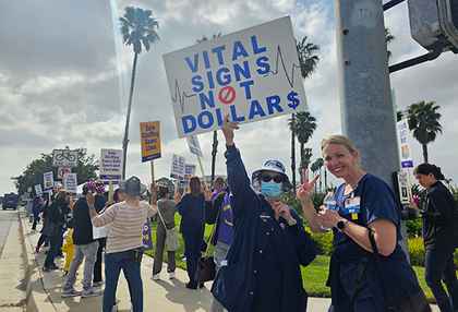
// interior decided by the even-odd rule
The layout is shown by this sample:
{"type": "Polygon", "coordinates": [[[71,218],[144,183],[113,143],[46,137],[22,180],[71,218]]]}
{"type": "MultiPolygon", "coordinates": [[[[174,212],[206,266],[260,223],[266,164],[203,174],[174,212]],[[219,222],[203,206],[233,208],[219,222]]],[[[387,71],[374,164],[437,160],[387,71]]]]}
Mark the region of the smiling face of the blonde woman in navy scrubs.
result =
{"type": "Polygon", "coordinates": [[[359,154],[350,151],[341,144],[327,144],[323,148],[325,166],[337,178],[346,180],[351,173],[359,169],[359,154]]]}

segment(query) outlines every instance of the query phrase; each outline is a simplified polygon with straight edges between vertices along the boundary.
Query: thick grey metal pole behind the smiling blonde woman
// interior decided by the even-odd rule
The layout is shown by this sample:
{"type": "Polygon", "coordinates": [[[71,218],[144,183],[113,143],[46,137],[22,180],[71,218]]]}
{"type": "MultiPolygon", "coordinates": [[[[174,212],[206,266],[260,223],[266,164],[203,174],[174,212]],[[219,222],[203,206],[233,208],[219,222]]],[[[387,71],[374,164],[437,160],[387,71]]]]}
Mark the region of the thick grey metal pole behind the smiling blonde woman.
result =
{"type": "MultiPolygon", "coordinates": [[[[393,184],[399,170],[382,0],[336,0],[342,131],[364,169],[393,184]]],[[[405,238],[406,240],[406,238],[405,238]]],[[[406,243],[402,245],[408,255],[406,243]]]]}

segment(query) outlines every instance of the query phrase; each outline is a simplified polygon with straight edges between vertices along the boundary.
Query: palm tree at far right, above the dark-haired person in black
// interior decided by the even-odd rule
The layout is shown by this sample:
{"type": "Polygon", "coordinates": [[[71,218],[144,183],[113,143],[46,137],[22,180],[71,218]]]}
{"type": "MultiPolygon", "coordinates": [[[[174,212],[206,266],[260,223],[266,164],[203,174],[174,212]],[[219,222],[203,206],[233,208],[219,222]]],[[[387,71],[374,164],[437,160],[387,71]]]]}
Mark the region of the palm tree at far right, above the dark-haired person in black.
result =
{"type": "Polygon", "coordinates": [[[409,130],[413,131],[413,137],[420,142],[423,148],[423,160],[427,163],[427,144],[436,140],[437,133],[442,133],[442,125],[438,122],[441,107],[435,101],[424,100],[409,106],[409,130]]]}

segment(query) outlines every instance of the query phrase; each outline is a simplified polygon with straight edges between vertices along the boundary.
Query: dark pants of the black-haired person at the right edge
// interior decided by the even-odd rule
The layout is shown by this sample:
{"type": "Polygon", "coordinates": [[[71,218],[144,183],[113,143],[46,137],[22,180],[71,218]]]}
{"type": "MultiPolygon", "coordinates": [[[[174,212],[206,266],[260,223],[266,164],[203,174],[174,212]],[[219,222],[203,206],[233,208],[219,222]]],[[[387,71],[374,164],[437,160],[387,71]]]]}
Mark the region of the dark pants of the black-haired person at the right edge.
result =
{"type": "Polygon", "coordinates": [[[454,265],[453,250],[426,250],[425,279],[437,301],[441,312],[458,310],[458,283],[454,265]],[[447,286],[445,291],[442,280],[447,286]]]}

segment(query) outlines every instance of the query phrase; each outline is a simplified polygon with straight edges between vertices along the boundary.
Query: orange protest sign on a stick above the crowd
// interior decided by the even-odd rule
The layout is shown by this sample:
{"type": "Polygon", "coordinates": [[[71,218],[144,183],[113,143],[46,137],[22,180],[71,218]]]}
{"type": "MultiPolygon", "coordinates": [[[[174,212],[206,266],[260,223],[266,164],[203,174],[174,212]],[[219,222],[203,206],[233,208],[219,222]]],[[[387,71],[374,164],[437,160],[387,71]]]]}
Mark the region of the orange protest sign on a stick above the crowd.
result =
{"type": "Polygon", "coordinates": [[[160,124],[159,121],[140,123],[140,142],[142,161],[160,158],[160,124]]]}

